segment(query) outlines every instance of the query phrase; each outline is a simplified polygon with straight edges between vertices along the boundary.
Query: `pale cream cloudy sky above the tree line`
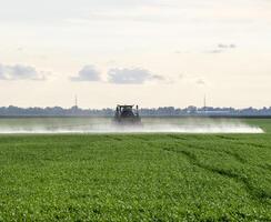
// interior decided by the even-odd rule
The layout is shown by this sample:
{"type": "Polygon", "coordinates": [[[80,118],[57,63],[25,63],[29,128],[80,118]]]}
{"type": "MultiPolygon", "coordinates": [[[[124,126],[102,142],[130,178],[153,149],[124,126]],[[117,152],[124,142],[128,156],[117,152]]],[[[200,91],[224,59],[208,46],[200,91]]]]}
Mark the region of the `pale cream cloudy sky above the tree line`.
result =
{"type": "Polygon", "coordinates": [[[0,0],[0,107],[270,107],[270,0],[0,0]]]}

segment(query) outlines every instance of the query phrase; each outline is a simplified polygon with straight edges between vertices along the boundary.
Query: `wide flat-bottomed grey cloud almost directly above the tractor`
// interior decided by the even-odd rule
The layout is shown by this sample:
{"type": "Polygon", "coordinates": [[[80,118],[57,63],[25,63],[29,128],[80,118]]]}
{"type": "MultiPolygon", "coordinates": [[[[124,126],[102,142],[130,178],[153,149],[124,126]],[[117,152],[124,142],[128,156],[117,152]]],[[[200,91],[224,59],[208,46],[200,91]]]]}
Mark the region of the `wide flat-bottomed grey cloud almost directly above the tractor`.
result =
{"type": "Polygon", "coordinates": [[[162,75],[151,74],[149,70],[134,69],[110,69],[108,71],[109,82],[116,84],[143,84],[147,81],[164,80],[162,75]]]}

